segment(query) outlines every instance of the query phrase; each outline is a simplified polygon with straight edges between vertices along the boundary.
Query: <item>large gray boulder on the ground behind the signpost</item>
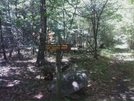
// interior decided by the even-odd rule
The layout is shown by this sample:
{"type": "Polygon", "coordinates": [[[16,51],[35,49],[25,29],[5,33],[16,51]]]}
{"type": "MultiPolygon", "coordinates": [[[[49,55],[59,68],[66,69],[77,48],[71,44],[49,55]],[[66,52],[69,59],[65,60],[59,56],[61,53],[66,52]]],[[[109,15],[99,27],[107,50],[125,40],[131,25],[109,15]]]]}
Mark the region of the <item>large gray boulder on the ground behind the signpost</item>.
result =
{"type": "MultiPolygon", "coordinates": [[[[81,88],[85,87],[87,84],[87,75],[82,70],[74,72],[64,72],[62,73],[61,80],[62,96],[67,96],[75,93],[81,88]]],[[[56,77],[54,77],[48,90],[51,91],[54,95],[56,94],[56,77]]]]}

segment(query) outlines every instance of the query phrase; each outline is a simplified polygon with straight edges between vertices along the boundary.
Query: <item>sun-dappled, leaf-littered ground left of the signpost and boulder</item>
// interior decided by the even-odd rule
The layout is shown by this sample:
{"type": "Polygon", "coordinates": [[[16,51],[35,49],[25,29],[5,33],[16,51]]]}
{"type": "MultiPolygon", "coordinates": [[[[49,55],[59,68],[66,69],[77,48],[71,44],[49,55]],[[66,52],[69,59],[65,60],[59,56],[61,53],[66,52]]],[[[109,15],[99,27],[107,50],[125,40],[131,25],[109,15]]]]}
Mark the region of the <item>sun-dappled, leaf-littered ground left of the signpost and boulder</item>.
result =
{"type": "Polygon", "coordinates": [[[13,60],[0,68],[0,99],[2,100],[50,100],[47,92],[49,81],[41,77],[34,62],[13,60]]]}

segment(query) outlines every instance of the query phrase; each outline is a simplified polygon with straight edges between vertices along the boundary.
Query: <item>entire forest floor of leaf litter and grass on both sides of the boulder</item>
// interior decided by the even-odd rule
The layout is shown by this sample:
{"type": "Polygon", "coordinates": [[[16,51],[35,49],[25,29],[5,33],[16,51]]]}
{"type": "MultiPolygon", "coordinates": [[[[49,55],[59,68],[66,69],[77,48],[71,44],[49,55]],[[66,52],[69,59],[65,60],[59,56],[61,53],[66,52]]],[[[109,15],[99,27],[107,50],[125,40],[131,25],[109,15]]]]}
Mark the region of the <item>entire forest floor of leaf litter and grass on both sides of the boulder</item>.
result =
{"type": "MultiPolygon", "coordinates": [[[[83,91],[63,99],[134,100],[134,61],[128,61],[128,55],[118,53],[118,48],[115,50],[118,55],[113,54],[113,58],[101,55],[98,60],[85,58],[83,54],[71,55],[72,67],[86,72],[88,85],[83,91]]],[[[120,51],[123,53],[124,49],[120,51]]],[[[23,55],[25,57],[22,60],[14,57],[4,62],[0,59],[0,100],[52,100],[53,95],[47,91],[51,81],[42,78],[33,56],[23,55]]],[[[67,61],[69,56],[64,57],[64,61],[67,61]]],[[[53,56],[47,60],[54,65],[53,56]]]]}

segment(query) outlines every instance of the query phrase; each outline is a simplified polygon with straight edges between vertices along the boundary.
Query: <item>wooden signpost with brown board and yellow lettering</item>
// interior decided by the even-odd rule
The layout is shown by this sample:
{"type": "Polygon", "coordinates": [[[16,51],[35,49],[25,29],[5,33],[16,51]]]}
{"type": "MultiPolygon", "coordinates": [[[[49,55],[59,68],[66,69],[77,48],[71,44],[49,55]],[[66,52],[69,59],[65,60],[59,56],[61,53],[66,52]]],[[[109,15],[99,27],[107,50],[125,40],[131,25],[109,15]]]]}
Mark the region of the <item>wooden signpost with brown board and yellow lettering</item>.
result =
{"type": "Polygon", "coordinates": [[[45,51],[56,51],[56,100],[61,100],[61,52],[70,51],[70,44],[60,44],[61,36],[58,34],[59,44],[45,44],[45,51]]]}

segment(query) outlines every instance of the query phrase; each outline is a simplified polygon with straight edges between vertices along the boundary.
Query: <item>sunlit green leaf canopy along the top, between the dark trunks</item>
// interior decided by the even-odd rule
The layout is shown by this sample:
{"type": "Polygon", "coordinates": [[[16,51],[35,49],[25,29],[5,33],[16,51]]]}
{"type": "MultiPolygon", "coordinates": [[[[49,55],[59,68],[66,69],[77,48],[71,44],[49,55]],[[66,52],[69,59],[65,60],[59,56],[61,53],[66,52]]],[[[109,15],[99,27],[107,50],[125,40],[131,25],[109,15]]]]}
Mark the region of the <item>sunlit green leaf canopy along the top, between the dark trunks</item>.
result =
{"type": "MultiPolygon", "coordinates": [[[[27,29],[29,31],[38,31],[40,29],[40,1],[39,0],[21,0],[17,3],[14,0],[8,0],[8,2],[2,0],[0,2],[0,10],[2,11],[2,18],[3,21],[10,22],[17,27],[27,29]],[[17,4],[17,5],[16,5],[17,4]],[[9,8],[8,8],[9,6],[9,8]],[[17,7],[17,9],[16,9],[17,7]],[[8,9],[10,9],[11,13],[11,21],[9,20],[10,16],[8,14],[8,9]],[[17,10],[17,13],[16,13],[17,10]],[[12,11],[12,12],[11,12],[12,11]],[[17,17],[16,17],[17,14],[17,17]]],[[[96,0],[96,11],[100,12],[102,5],[105,3],[106,0],[96,0]],[[98,8],[97,8],[98,7],[98,8]]],[[[133,0],[130,0],[133,2],[133,0]]],[[[81,1],[81,0],[48,0],[47,2],[47,13],[44,13],[44,16],[47,17],[48,27],[54,30],[55,32],[61,26],[62,31],[58,30],[57,33],[62,33],[65,37],[74,36],[74,39],[77,39],[77,36],[86,35],[83,37],[82,43],[85,43],[85,38],[87,35],[90,38],[93,38],[93,26],[91,23],[92,12],[91,12],[91,5],[88,5],[87,2],[90,1],[81,1]],[[64,14],[64,16],[63,16],[64,14]],[[64,30],[64,31],[63,31],[64,30]],[[63,33],[64,32],[64,33],[63,33]]],[[[120,4],[121,5],[121,4],[120,4]]],[[[119,10],[119,4],[117,1],[109,1],[106,8],[103,11],[102,17],[99,21],[99,30],[98,32],[98,43],[104,42],[106,47],[111,47],[114,45],[114,36],[115,33],[120,32],[116,30],[115,23],[121,22],[123,20],[123,15],[121,13],[117,13],[119,10]]],[[[121,6],[122,7],[122,6],[121,6]]],[[[130,32],[129,27],[124,24],[121,29],[125,29],[125,32],[130,32]],[[124,28],[123,28],[124,27],[124,28]]],[[[131,27],[132,28],[132,27],[131,27]]],[[[132,29],[133,30],[133,29],[132,29]]],[[[122,32],[124,32],[122,30],[122,32]]],[[[30,35],[30,32],[28,35],[30,35]]],[[[67,38],[68,39],[68,38],[67,38]]],[[[72,38],[70,38],[72,40],[72,38]]],[[[133,39],[133,37],[131,38],[133,39]]],[[[68,41],[70,42],[70,41],[68,41]]],[[[133,42],[128,40],[128,43],[131,44],[130,46],[133,47],[133,42]]],[[[93,41],[94,44],[94,41],[93,41]]],[[[94,46],[94,45],[93,45],[94,46]]]]}

